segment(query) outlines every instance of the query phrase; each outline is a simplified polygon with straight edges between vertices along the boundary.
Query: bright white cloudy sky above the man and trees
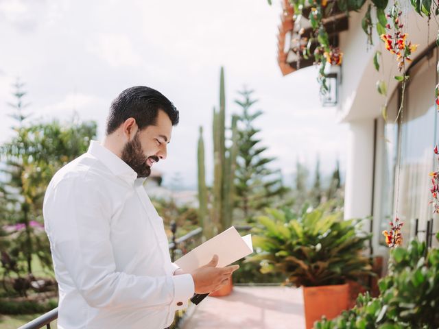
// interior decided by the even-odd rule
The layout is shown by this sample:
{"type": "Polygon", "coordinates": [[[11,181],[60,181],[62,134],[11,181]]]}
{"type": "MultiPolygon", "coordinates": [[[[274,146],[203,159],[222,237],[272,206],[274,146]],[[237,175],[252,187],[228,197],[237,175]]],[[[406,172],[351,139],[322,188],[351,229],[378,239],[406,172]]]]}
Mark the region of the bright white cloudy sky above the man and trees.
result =
{"type": "Polygon", "coordinates": [[[253,110],[264,112],[255,126],[285,184],[292,184],[297,160],[313,172],[320,158],[329,174],[339,159],[343,171],[348,127],[337,123],[335,108],[320,106],[315,67],[282,76],[281,4],[273,2],[0,0],[0,143],[13,134],[7,103],[17,77],[33,122],[95,120],[99,140],[112,99],[130,86],[150,86],[180,111],[167,159],[154,167],[165,185],[178,176],[193,187],[200,125],[211,180],[212,112],[224,66],[226,115],[240,112],[237,90],[254,90],[253,110]]]}

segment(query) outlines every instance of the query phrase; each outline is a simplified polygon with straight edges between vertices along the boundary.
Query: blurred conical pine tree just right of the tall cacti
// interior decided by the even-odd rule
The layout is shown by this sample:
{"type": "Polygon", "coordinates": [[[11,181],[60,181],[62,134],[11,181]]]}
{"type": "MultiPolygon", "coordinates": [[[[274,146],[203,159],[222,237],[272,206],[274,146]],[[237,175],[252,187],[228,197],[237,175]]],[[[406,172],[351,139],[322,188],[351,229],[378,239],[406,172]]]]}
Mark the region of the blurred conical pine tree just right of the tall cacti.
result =
{"type": "Polygon", "coordinates": [[[240,91],[241,99],[235,100],[242,108],[239,116],[239,140],[237,171],[235,179],[236,200],[235,205],[242,211],[242,218],[246,222],[252,222],[263,208],[273,206],[287,192],[283,186],[281,171],[268,168],[268,164],[275,158],[263,156],[267,147],[261,146],[261,140],[257,134],[261,131],[254,127],[254,120],[263,112],[250,111],[257,102],[251,99],[253,91],[244,88],[240,91]]]}

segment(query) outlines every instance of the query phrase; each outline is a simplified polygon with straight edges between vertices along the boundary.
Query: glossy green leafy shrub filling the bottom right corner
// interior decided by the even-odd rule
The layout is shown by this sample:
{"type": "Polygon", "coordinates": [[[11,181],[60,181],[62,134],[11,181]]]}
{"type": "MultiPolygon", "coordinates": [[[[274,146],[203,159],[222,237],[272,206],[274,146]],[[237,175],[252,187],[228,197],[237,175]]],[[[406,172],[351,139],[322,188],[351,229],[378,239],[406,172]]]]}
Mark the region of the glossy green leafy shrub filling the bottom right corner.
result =
{"type": "Polygon", "coordinates": [[[315,328],[439,328],[439,249],[416,240],[392,249],[379,290],[376,298],[359,295],[357,306],[315,328]]]}

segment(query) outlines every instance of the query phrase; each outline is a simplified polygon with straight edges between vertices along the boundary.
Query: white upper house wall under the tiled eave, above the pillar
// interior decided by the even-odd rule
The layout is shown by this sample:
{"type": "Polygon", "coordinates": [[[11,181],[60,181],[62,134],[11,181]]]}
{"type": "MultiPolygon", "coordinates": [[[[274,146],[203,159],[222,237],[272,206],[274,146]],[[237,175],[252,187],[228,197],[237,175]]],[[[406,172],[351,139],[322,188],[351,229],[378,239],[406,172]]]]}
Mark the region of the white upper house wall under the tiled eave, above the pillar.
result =
{"type": "MultiPolygon", "coordinates": [[[[405,21],[405,32],[409,34],[407,40],[419,45],[412,58],[414,59],[436,40],[437,25],[432,20],[428,31],[427,19],[416,14],[408,0],[400,2],[407,12],[402,16],[405,21]]],[[[398,85],[393,76],[401,74],[396,69],[396,57],[385,50],[375,28],[373,29],[374,45],[368,49],[366,34],[361,28],[361,20],[366,9],[365,5],[361,12],[350,12],[349,29],[340,34],[340,47],[344,55],[339,119],[344,122],[379,117],[381,105],[386,99],[377,93],[377,81],[384,80],[388,84],[388,98],[390,98],[398,85]],[[377,50],[383,54],[383,62],[380,62],[383,71],[380,73],[373,65],[373,56],[377,50]]],[[[375,13],[372,13],[372,18],[374,16],[375,13]]]]}

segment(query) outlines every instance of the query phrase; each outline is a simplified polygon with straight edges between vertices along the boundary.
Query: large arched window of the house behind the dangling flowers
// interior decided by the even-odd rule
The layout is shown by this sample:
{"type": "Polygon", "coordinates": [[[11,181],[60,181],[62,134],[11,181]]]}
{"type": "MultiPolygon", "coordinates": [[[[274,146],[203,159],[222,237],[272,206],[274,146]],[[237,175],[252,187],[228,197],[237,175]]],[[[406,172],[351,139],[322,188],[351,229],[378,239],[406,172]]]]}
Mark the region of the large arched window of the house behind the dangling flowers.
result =
{"type": "MultiPolygon", "coordinates": [[[[400,91],[396,90],[388,104],[388,121],[381,123],[381,130],[377,133],[377,138],[383,139],[381,147],[376,149],[377,158],[380,159],[377,162],[380,170],[376,180],[380,200],[375,211],[379,215],[379,233],[388,230],[389,221],[397,210],[399,219],[404,222],[405,241],[414,237],[416,219],[419,220],[420,230],[424,230],[427,220],[432,217],[429,172],[437,165],[433,147],[438,143],[439,133],[438,111],[434,102],[438,51],[434,49],[434,56],[429,55],[410,68],[405,107],[398,124],[395,118],[400,91]]],[[[438,221],[434,226],[434,230],[438,230],[438,221]]],[[[419,238],[423,240],[425,236],[420,234],[419,238]]],[[[381,235],[379,244],[385,245],[381,235]]]]}

